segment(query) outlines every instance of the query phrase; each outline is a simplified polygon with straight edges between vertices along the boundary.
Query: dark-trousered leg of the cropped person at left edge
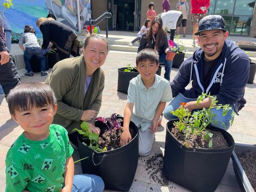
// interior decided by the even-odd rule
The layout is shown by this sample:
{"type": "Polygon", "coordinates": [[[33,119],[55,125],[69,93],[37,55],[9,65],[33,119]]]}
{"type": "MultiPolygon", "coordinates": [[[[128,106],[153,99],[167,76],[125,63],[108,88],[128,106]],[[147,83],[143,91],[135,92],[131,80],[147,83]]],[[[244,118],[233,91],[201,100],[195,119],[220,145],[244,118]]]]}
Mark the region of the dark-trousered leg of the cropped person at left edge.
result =
{"type": "Polygon", "coordinates": [[[0,84],[3,87],[5,97],[11,89],[20,83],[20,76],[18,75],[17,68],[13,63],[12,58],[4,65],[0,65],[0,84]]]}

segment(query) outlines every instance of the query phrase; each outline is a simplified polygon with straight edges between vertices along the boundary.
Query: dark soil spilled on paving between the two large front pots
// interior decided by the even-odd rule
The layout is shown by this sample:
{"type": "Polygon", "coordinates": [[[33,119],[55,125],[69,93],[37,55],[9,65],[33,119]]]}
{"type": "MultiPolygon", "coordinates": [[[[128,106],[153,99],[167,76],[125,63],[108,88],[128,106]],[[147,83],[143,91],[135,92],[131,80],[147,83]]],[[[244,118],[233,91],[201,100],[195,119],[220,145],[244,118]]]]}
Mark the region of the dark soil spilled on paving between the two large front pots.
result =
{"type": "Polygon", "coordinates": [[[151,182],[156,182],[161,186],[172,187],[172,182],[166,179],[162,174],[163,169],[163,154],[154,154],[149,159],[140,157],[141,162],[146,166],[147,174],[151,182]]]}

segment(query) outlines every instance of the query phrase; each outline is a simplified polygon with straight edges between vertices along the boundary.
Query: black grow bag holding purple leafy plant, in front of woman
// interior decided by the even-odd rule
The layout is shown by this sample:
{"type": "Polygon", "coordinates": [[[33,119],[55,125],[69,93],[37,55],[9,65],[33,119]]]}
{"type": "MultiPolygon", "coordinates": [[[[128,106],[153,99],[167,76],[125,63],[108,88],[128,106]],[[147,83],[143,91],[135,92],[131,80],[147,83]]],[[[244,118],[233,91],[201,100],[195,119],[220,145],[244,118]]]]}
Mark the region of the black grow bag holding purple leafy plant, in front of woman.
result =
{"type": "MultiPolygon", "coordinates": [[[[98,125],[95,126],[99,127],[98,125]]],[[[107,152],[95,152],[78,139],[82,172],[100,176],[106,189],[129,191],[139,159],[138,128],[131,121],[130,127],[137,131],[136,136],[125,146],[107,152]]],[[[101,127],[100,127],[101,128],[101,127]]]]}

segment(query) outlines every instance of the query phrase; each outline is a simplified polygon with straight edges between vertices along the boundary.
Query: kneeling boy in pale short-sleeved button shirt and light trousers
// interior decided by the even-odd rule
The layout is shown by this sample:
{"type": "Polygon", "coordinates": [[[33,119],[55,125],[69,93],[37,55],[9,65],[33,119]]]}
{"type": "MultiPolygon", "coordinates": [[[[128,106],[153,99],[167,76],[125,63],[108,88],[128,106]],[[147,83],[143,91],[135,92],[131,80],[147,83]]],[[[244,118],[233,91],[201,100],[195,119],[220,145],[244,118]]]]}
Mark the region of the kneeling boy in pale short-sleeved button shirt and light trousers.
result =
{"type": "Polygon", "coordinates": [[[132,120],[139,128],[139,155],[147,156],[161,114],[166,102],[171,101],[172,93],[169,81],[155,74],[159,67],[156,50],[141,50],[136,57],[136,67],[140,74],[130,80],[120,145],[124,146],[131,140],[129,124],[132,120]]]}

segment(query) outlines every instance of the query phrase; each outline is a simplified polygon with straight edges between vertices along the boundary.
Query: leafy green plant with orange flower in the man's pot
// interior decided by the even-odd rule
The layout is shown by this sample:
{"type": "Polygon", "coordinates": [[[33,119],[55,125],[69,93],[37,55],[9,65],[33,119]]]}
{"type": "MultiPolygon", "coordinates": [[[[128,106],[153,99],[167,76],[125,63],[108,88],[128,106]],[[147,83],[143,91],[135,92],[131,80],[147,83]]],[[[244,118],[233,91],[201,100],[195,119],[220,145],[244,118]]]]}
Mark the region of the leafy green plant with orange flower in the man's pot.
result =
{"type": "MultiPolygon", "coordinates": [[[[213,134],[207,130],[209,124],[213,122],[212,118],[215,116],[211,109],[222,109],[222,114],[225,116],[232,108],[228,104],[217,104],[218,101],[216,100],[216,96],[211,96],[206,93],[203,93],[197,98],[197,106],[200,101],[207,97],[211,100],[209,108],[203,108],[202,110],[195,111],[191,114],[187,108],[184,108],[186,103],[182,102],[181,107],[171,113],[178,117],[179,120],[174,122],[174,126],[179,130],[179,132],[184,132],[186,140],[192,139],[192,135],[203,135],[204,139],[209,140],[209,148],[212,148],[213,134]]],[[[234,116],[235,112],[231,115],[231,125],[233,123],[234,116]]],[[[225,126],[224,123],[223,126],[225,126]]]]}

